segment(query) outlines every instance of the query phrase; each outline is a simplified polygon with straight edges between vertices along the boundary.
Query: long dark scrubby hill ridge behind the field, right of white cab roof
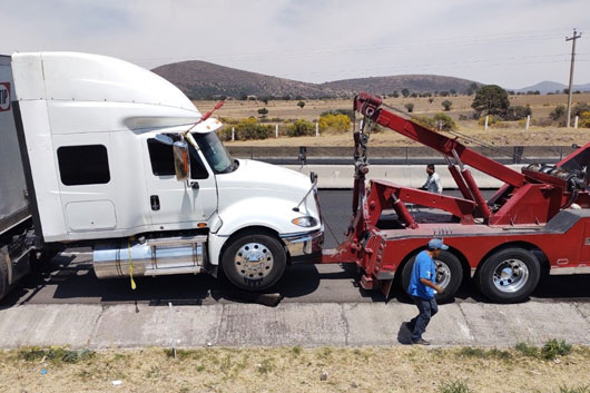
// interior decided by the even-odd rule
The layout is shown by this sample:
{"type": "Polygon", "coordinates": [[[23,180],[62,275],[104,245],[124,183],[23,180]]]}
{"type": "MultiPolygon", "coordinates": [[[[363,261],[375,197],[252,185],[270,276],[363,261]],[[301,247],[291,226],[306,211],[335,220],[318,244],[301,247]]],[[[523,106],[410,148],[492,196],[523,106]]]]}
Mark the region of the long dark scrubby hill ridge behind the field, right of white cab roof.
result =
{"type": "Polygon", "coordinates": [[[309,83],[243,71],[235,68],[190,60],[165,65],[153,69],[163,78],[176,85],[191,99],[212,99],[218,96],[243,98],[340,98],[352,97],[358,91],[387,94],[401,91],[465,91],[472,80],[435,75],[402,75],[336,80],[325,83],[309,83]]]}

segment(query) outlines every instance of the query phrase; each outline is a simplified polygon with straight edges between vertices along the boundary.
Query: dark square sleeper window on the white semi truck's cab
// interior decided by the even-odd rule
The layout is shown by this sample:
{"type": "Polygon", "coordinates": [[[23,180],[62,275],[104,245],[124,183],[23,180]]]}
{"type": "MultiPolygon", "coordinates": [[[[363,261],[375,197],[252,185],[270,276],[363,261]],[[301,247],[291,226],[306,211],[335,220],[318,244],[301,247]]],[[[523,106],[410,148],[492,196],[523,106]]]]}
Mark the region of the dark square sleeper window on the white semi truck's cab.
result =
{"type": "Polygon", "coordinates": [[[107,148],[102,145],[61,146],[58,164],[61,183],[66,186],[110,181],[107,148]]]}

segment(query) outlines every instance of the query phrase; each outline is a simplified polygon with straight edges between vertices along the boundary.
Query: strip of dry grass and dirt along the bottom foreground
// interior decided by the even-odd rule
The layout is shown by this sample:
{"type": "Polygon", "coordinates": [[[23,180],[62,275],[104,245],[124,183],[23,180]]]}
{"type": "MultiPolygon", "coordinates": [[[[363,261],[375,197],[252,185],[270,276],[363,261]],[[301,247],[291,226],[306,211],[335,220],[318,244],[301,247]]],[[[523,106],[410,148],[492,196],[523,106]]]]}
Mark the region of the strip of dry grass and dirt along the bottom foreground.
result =
{"type": "Polygon", "coordinates": [[[514,348],[415,346],[196,348],[176,358],[161,348],[108,350],[80,357],[0,352],[0,391],[590,392],[590,348],[580,346],[553,360],[514,348]]]}

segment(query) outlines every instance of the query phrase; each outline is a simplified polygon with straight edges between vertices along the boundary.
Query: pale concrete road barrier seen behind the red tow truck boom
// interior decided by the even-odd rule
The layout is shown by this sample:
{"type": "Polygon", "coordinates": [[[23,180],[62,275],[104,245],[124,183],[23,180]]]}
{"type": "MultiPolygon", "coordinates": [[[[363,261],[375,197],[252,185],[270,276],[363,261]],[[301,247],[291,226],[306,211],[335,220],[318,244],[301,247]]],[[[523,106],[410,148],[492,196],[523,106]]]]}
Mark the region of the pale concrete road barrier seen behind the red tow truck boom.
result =
{"type": "MultiPolygon", "coordinates": [[[[353,165],[284,165],[305,175],[309,175],[313,170],[317,174],[317,186],[319,188],[352,188],[354,166],[353,165]]],[[[522,164],[507,165],[520,173],[523,167],[522,164]]],[[[502,181],[485,175],[484,173],[473,169],[468,166],[475,183],[480,188],[499,188],[503,185],[502,181]]],[[[441,176],[443,188],[458,188],[453,177],[446,169],[446,166],[436,166],[436,171],[441,176]]],[[[425,165],[372,165],[368,167],[367,179],[381,179],[399,184],[404,187],[421,187],[426,181],[426,166],[425,165]]]]}

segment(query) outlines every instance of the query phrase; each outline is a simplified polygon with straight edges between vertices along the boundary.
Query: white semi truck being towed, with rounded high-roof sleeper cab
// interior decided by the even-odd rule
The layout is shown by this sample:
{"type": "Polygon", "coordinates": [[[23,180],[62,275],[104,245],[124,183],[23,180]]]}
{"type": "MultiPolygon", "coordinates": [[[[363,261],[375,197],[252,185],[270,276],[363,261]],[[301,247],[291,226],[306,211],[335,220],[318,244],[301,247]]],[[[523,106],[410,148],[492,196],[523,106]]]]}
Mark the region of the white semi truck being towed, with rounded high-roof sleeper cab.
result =
{"type": "Polygon", "coordinates": [[[234,159],[222,124],[200,119],[179,89],[126,61],[1,56],[0,298],[33,256],[71,244],[92,247],[99,278],[220,267],[243,289],[318,262],[314,176],[234,159]]]}

